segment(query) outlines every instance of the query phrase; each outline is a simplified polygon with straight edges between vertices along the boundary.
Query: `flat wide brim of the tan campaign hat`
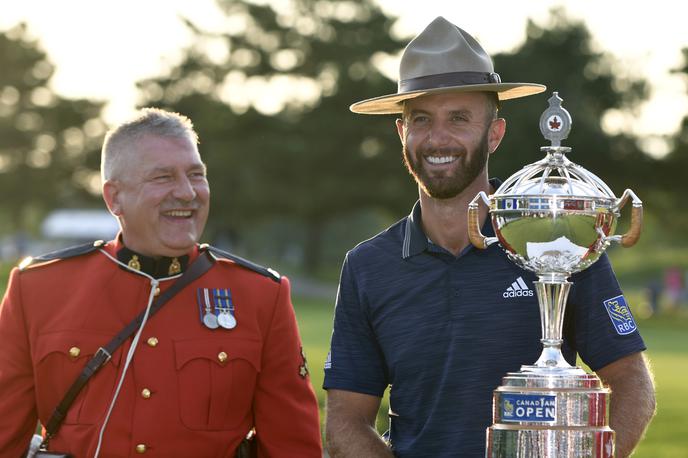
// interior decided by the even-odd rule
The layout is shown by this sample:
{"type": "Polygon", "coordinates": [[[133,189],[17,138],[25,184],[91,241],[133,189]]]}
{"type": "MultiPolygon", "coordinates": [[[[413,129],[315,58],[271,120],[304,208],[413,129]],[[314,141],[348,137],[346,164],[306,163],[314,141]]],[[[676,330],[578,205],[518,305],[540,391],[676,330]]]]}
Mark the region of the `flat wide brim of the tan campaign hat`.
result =
{"type": "Polygon", "coordinates": [[[422,97],[424,95],[441,94],[445,92],[496,92],[499,100],[509,100],[539,94],[546,89],[546,86],[535,83],[486,83],[439,87],[409,91],[401,94],[388,94],[372,99],[361,100],[351,105],[349,109],[359,114],[396,114],[404,111],[403,101],[415,99],[416,97],[422,97]]]}

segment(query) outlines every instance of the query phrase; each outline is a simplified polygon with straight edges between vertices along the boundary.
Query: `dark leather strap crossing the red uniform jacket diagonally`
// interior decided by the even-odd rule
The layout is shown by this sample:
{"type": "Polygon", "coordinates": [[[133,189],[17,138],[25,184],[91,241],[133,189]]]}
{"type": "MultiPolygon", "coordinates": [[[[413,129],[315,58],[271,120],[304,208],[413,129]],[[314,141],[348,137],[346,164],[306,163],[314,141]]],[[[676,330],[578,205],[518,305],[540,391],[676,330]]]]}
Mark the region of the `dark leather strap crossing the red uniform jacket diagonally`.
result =
{"type": "MultiPolygon", "coordinates": [[[[213,257],[207,251],[202,252],[191,264],[191,266],[189,266],[189,268],[184,272],[184,274],[179,277],[179,279],[177,279],[177,281],[175,281],[169,289],[165,290],[165,292],[162,293],[155,302],[153,302],[150,312],[148,313],[149,319],[186,285],[207,272],[212,267],[213,262],[213,257]]],[[[50,440],[50,438],[57,433],[57,430],[62,424],[62,420],[64,420],[69,407],[72,405],[79,392],[84,388],[84,386],[86,386],[86,383],[89,381],[89,379],[93,377],[93,375],[95,375],[95,373],[98,372],[98,370],[110,360],[115,350],[117,350],[124,343],[124,341],[126,341],[132,336],[132,334],[136,332],[139,326],[141,326],[144,315],[145,311],[141,312],[131,323],[122,329],[119,334],[117,334],[110,342],[108,342],[105,347],[100,347],[96,354],[93,355],[88,363],[86,363],[86,367],[84,367],[81,374],[79,374],[76,380],[74,380],[74,383],[72,383],[72,386],[69,387],[64,398],[62,398],[62,401],[60,401],[55,408],[50,420],[48,420],[48,424],[45,427],[45,445],[47,445],[47,442],[50,440]]]]}

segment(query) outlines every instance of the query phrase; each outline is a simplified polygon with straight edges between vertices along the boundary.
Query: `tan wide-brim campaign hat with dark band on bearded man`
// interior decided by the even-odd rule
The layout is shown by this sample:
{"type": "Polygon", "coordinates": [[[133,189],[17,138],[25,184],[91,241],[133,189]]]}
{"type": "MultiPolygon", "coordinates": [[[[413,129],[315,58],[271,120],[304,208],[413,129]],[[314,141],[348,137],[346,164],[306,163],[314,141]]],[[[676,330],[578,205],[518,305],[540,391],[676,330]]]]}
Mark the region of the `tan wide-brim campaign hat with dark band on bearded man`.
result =
{"type": "Polygon", "coordinates": [[[495,92],[499,100],[539,94],[535,83],[503,83],[492,59],[469,33],[439,16],[404,49],[396,94],[356,102],[354,113],[401,113],[405,100],[443,92],[495,92]]]}

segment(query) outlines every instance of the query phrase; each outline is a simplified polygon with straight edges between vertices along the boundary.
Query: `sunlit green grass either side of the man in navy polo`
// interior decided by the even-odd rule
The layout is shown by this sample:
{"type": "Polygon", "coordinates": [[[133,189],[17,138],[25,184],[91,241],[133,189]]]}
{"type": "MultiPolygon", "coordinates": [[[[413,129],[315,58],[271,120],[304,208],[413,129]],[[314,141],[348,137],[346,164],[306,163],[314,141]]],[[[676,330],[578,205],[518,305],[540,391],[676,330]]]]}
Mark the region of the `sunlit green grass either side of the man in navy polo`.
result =
{"type": "MultiPolygon", "coordinates": [[[[631,304],[642,304],[642,290],[631,290],[627,296],[631,304]]],[[[299,298],[294,298],[294,305],[324,423],[325,393],[321,387],[332,331],[333,305],[327,301],[299,298]]],[[[638,322],[655,374],[658,408],[657,416],[633,456],[688,457],[688,314],[666,312],[638,319],[638,322]]],[[[380,431],[387,428],[386,399],[378,414],[377,426],[380,431]]]]}

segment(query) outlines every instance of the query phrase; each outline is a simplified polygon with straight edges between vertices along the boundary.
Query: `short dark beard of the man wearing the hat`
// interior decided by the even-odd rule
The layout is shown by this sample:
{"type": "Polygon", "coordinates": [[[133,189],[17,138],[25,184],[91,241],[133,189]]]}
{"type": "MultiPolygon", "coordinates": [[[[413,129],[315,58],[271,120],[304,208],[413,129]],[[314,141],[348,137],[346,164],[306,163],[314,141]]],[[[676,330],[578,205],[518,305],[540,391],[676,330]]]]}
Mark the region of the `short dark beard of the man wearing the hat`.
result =
{"type": "Polygon", "coordinates": [[[480,140],[473,154],[468,154],[465,148],[418,148],[415,154],[403,147],[404,164],[418,186],[430,197],[435,199],[450,199],[456,197],[466,189],[482,173],[487,165],[488,130],[480,140]],[[455,169],[441,174],[430,174],[426,168],[426,154],[439,156],[458,155],[455,169]],[[463,164],[461,164],[461,162],[463,164]]]}

